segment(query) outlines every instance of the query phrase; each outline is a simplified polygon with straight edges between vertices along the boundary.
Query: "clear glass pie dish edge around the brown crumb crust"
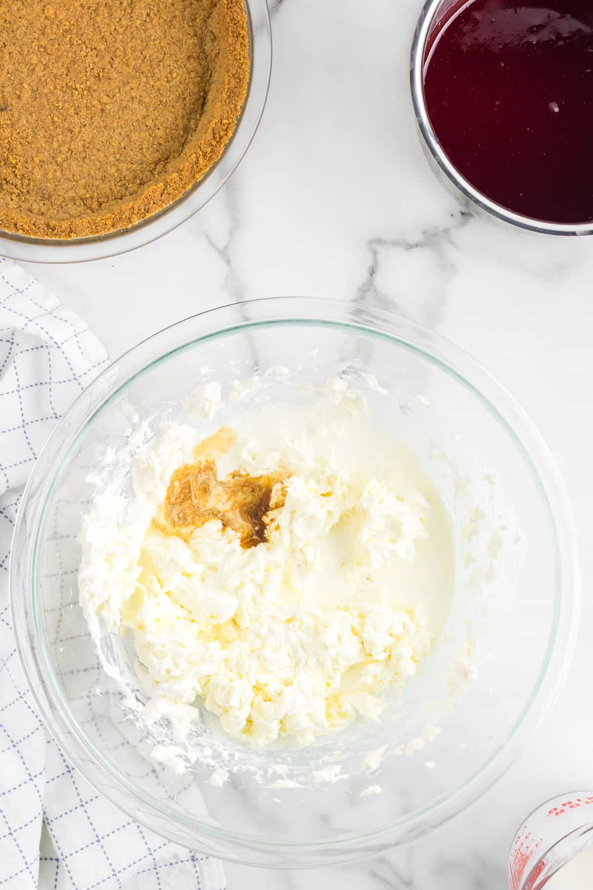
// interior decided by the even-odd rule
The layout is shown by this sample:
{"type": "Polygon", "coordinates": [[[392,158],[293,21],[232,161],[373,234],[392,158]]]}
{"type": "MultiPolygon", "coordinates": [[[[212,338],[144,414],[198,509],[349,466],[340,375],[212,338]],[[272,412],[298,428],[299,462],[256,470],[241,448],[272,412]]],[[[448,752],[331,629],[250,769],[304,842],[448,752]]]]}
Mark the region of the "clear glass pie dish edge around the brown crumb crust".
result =
{"type": "Polygon", "coordinates": [[[129,229],[80,239],[25,238],[0,231],[0,255],[29,263],[84,263],[144,247],[185,223],[227,182],[243,159],[260,125],[272,69],[272,30],[267,0],[244,0],[249,36],[250,74],[244,106],[216,164],[172,205],[129,229]]]}

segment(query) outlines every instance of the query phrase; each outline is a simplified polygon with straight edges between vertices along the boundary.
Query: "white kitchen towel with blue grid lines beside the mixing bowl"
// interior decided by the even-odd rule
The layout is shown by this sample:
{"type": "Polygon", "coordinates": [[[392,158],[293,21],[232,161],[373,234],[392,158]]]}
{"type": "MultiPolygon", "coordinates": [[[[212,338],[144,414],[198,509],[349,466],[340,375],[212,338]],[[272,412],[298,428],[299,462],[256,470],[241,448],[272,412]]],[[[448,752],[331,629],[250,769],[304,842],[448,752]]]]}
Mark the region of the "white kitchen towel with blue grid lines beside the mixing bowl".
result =
{"type": "Polygon", "coordinates": [[[73,312],[0,258],[0,890],[223,890],[220,862],[141,828],[77,773],[36,713],[14,647],[20,496],[52,427],[107,364],[73,312]]]}

